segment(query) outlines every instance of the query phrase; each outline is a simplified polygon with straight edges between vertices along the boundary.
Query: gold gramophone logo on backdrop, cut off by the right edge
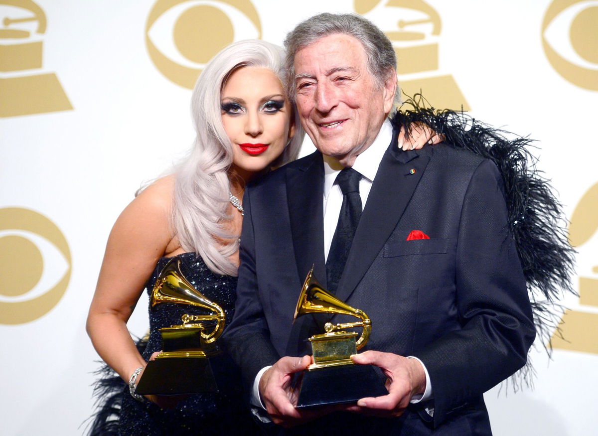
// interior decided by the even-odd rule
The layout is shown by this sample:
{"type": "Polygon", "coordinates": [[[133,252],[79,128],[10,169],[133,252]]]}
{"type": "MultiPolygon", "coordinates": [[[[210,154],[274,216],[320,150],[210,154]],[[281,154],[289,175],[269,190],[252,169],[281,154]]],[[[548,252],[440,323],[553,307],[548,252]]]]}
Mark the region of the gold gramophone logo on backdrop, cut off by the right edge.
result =
{"type": "Polygon", "coordinates": [[[567,310],[560,325],[563,337],[553,336],[554,348],[598,354],[598,183],[573,211],[569,240],[578,249],[579,310],[567,310]]]}

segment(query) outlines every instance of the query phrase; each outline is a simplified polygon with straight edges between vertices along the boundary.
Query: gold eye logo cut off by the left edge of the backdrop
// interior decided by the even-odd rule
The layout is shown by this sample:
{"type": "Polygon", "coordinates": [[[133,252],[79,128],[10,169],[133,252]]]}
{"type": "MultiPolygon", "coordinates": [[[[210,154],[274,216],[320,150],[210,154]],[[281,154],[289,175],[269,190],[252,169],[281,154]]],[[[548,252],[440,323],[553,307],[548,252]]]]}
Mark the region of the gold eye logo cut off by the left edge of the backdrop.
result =
{"type": "Polygon", "coordinates": [[[0,324],[23,324],[56,306],[71,279],[62,232],[29,209],[0,209],[0,324]]]}

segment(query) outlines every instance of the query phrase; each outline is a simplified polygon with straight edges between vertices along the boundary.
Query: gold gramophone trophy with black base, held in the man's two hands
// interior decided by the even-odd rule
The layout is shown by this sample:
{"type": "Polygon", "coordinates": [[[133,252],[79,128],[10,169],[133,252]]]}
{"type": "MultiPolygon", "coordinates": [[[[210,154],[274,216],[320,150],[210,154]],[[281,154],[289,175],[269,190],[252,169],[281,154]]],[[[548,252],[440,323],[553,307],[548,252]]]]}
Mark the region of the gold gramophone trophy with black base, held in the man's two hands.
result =
{"type": "Polygon", "coordinates": [[[309,338],[312,343],[313,364],[303,373],[297,406],[315,407],[325,404],[355,403],[359,398],[388,394],[385,377],[373,365],[358,365],[350,356],[356,354],[368,341],[371,319],[362,310],[339,300],[322,287],[313,276],[313,269],[303,283],[293,321],[307,313],[351,315],[361,319],[324,325],[326,333],[309,338]],[[363,327],[361,336],[344,328],[363,327]]]}

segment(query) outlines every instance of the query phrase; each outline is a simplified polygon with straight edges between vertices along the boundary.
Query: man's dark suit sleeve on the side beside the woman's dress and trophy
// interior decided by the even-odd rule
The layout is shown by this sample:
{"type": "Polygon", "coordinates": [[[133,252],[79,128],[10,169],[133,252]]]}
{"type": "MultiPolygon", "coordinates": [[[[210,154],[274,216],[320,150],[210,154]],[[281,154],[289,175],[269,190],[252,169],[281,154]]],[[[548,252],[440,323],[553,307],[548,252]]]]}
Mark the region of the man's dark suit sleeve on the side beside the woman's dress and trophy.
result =
{"type": "Polygon", "coordinates": [[[270,342],[269,330],[258,295],[254,224],[249,192],[250,190],[247,189],[243,197],[245,211],[239,249],[240,267],[235,313],[233,321],[222,337],[227,352],[241,368],[246,393],[251,392],[257,373],[279,359],[270,342]]]}

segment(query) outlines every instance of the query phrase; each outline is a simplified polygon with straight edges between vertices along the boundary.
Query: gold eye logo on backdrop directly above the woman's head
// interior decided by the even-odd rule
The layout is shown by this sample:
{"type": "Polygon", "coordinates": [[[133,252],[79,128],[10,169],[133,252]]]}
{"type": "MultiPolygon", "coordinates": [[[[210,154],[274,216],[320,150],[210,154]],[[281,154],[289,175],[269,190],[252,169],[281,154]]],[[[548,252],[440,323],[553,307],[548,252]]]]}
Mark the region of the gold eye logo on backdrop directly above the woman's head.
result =
{"type": "Polygon", "coordinates": [[[218,51],[249,38],[261,38],[260,18],[249,0],[158,0],[145,26],[156,68],[188,89],[218,51]]]}

